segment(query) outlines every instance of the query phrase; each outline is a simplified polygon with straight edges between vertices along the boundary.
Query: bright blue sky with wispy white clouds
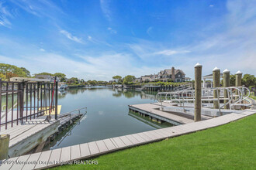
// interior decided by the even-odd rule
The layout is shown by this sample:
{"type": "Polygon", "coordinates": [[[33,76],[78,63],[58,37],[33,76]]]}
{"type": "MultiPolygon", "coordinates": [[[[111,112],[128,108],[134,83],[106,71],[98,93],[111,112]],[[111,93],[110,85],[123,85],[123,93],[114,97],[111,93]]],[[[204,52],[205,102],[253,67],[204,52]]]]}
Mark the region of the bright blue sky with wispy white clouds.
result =
{"type": "Polygon", "coordinates": [[[256,1],[0,0],[1,63],[85,80],[256,74],[256,1]]]}

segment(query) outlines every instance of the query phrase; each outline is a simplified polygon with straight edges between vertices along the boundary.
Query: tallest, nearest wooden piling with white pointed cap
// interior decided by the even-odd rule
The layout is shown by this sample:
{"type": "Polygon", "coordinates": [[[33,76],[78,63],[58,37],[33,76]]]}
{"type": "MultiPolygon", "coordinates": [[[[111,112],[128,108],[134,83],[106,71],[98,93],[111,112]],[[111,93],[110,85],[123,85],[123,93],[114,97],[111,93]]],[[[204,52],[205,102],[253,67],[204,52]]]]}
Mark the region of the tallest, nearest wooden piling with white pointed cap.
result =
{"type": "Polygon", "coordinates": [[[195,116],[194,121],[201,121],[201,96],[202,96],[202,65],[195,64],[195,116]]]}

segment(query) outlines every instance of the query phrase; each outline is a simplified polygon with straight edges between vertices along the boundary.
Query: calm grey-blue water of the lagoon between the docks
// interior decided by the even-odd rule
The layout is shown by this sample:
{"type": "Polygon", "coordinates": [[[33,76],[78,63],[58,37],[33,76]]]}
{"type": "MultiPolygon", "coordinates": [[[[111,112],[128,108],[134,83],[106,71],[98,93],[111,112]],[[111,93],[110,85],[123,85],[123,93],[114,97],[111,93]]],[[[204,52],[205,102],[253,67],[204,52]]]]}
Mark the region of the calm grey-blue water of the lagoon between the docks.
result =
{"type": "Polygon", "coordinates": [[[154,102],[154,95],[152,92],[113,90],[109,87],[79,88],[60,93],[58,103],[62,105],[61,113],[87,107],[87,114],[71,130],[71,135],[59,137],[48,148],[62,148],[171,126],[129,113],[129,104],[154,102]]]}

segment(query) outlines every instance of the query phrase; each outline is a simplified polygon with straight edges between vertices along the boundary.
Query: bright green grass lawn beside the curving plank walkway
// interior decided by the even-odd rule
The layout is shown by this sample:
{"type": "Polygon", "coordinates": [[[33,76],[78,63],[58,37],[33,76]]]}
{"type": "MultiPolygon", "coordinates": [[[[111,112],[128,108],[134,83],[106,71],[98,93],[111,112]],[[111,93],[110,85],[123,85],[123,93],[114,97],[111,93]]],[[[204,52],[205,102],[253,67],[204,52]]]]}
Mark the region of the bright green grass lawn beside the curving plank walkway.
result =
{"type": "Polygon", "coordinates": [[[56,169],[255,169],[256,114],[206,131],[102,155],[98,165],[56,169]]]}

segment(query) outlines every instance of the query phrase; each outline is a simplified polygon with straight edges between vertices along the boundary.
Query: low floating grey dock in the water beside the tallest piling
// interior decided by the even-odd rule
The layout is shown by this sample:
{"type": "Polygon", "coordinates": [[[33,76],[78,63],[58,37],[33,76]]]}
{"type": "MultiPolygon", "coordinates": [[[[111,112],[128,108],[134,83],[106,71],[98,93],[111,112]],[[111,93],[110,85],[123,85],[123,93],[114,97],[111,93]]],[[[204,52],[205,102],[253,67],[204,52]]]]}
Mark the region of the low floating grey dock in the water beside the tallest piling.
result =
{"type": "MultiPolygon", "coordinates": [[[[166,121],[175,125],[189,124],[194,121],[194,117],[191,114],[162,111],[161,105],[157,103],[129,105],[129,109],[135,113],[145,114],[147,116],[153,117],[156,119],[156,121],[166,121]]],[[[209,118],[210,117],[202,116],[203,120],[209,118]]]]}

